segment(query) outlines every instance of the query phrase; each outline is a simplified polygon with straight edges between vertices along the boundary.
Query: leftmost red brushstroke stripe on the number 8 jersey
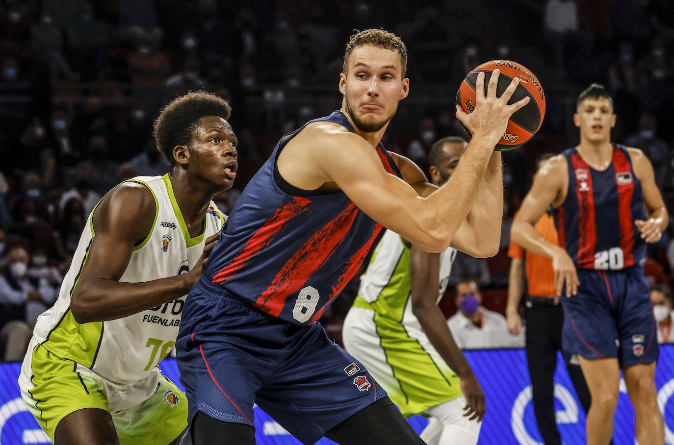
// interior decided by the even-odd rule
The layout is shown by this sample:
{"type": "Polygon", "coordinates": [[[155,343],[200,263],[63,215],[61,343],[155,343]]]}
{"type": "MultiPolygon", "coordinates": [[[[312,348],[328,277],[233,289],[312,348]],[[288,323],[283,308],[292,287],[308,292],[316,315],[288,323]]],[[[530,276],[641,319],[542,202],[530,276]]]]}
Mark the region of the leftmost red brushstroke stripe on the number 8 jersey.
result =
{"type": "Polygon", "coordinates": [[[243,249],[241,249],[241,252],[239,252],[228,265],[222,268],[220,272],[214,275],[212,281],[216,284],[222,284],[228,278],[236,275],[237,271],[251,259],[251,256],[266,248],[272,241],[272,238],[274,238],[274,235],[290,224],[293,217],[301,213],[303,207],[309,203],[311,203],[311,201],[308,199],[294,197],[293,201],[276,209],[274,215],[267,219],[267,221],[262,224],[262,227],[251,236],[245,246],[243,246],[243,249]]]}

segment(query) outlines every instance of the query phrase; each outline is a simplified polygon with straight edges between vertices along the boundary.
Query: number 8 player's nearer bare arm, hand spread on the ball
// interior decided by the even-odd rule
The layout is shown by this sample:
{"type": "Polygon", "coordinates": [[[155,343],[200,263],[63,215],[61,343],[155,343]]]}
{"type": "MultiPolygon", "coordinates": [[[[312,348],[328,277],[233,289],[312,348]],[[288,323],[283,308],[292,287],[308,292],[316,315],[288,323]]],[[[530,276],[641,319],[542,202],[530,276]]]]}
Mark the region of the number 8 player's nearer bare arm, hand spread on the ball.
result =
{"type": "Polygon", "coordinates": [[[388,174],[372,146],[354,133],[329,133],[325,130],[327,125],[312,125],[296,137],[299,141],[295,138],[290,141],[288,147],[294,143],[305,146],[305,149],[296,147],[295,155],[301,157],[298,162],[315,175],[316,188],[336,184],[361,210],[384,227],[427,252],[443,252],[472,207],[487,163],[508,119],[528,102],[528,98],[524,98],[508,105],[517,78],[497,98],[497,77],[497,71],[494,71],[485,96],[484,75],[478,76],[475,110],[471,114],[457,112],[471,131],[472,140],[450,180],[425,199],[404,180],[388,174]],[[315,149],[316,146],[320,149],[315,149]]]}

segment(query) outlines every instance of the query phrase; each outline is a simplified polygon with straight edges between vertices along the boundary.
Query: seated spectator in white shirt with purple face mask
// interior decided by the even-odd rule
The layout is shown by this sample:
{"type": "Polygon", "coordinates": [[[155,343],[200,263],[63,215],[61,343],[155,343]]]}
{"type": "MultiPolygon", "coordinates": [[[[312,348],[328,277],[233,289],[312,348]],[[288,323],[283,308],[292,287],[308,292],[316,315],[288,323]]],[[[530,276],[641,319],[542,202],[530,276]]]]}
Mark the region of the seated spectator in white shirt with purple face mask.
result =
{"type": "Polygon", "coordinates": [[[481,306],[482,294],[472,279],[462,279],[456,285],[454,302],[458,311],[447,320],[447,324],[458,347],[495,347],[492,333],[501,333],[502,337],[507,337],[508,322],[505,317],[481,306]]]}

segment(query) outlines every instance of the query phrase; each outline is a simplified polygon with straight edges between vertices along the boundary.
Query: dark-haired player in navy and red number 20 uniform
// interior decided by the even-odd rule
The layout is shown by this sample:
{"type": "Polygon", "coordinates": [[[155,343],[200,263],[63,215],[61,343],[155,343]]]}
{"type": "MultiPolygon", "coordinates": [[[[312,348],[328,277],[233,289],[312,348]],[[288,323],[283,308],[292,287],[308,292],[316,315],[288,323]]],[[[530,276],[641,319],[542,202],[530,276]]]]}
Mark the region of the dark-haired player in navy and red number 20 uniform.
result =
{"type": "Polygon", "coordinates": [[[564,308],[562,347],[580,357],[592,404],[589,445],[613,433],[620,370],[642,445],[663,444],[654,384],[656,322],[640,260],[661,238],[669,215],[641,150],[611,143],[613,100],[592,84],[578,97],[580,143],[541,166],[512,227],[514,242],[553,260],[564,308]],[[559,246],[534,228],[555,209],[559,246]]]}

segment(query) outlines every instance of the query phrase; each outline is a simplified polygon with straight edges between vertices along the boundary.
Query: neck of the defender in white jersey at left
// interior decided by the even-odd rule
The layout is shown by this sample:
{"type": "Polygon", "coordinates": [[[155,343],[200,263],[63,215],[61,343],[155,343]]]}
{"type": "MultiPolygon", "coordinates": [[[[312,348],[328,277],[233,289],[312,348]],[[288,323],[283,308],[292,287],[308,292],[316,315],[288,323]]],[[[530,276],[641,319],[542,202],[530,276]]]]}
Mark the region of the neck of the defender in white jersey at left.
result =
{"type": "Polygon", "coordinates": [[[202,221],[206,215],[206,209],[213,194],[204,188],[199,180],[190,178],[186,172],[175,168],[168,174],[173,187],[173,195],[178,204],[180,213],[187,225],[187,230],[192,234],[200,233],[202,221]]]}

